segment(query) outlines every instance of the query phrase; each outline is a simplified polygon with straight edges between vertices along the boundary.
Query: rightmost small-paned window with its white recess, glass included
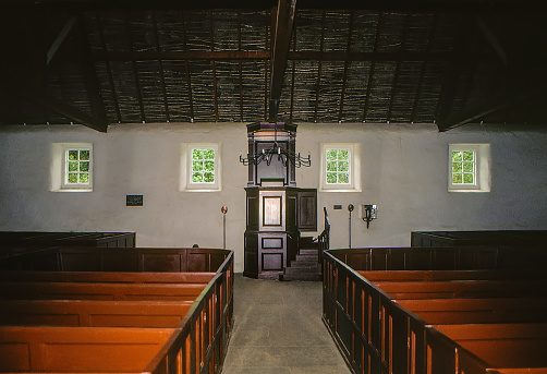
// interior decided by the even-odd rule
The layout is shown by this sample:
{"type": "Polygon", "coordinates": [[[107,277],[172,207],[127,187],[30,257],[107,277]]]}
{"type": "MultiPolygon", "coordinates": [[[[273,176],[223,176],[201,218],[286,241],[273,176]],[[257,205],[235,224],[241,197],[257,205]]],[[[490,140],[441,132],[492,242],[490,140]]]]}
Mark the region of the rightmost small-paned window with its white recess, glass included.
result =
{"type": "Polygon", "coordinates": [[[449,191],[490,191],[489,144],[449,145],[449,191]]]}

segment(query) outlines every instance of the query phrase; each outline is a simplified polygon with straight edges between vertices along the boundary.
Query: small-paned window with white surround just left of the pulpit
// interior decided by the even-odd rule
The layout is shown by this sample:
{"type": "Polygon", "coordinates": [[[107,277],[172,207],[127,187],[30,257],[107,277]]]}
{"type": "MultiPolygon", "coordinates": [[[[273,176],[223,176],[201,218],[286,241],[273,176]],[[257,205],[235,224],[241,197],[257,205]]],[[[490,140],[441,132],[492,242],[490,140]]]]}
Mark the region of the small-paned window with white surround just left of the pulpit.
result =
{"type": "Polygon", "coordinates": [[[183,144],[180,190],[219,191],[219,155],[218,144],[183,144]]]}

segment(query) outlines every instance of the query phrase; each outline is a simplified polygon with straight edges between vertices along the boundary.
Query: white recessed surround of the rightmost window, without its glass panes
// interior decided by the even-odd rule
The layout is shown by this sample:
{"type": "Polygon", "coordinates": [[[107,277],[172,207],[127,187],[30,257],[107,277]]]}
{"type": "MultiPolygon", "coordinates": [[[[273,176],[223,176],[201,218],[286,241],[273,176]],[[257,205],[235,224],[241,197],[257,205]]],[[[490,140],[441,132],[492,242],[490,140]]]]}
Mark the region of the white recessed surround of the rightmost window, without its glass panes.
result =
{"type": "Polygon", "coordinates": [[[487,143],[459,143],[448,146],[448,191],[449,192],[489,192],[490,191],[490,145],[487,143]],[[475,154],[474,183],[453,183],[452,152],[475,154]]]}

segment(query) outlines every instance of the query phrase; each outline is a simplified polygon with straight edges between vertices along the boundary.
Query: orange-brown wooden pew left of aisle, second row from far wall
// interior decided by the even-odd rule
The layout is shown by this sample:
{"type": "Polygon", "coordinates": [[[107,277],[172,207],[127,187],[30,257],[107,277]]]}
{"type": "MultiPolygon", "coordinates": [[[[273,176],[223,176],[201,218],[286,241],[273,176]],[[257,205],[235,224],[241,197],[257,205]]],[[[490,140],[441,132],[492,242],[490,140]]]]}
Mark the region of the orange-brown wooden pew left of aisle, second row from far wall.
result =
{"type": "Polygon", "coordinates": [[[0,299],[193,301],[203,283],[99,283],[0,281],[0,299]]]}

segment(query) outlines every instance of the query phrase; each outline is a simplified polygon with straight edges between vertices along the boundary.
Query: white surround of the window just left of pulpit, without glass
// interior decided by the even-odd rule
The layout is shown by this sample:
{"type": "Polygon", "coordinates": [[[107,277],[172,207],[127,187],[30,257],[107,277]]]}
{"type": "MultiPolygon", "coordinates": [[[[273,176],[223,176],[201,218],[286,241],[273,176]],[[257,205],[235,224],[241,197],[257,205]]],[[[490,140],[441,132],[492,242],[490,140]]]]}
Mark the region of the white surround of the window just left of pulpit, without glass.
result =
{"type": "Polygon", "coordinates": [[[180,191],[192,192],[216,192],[221,190],[221,158],[220,144],[218,143],[183,143],[181,149],[181,181],[180,191]],[[215,152],[215,182],[194,182],[193,174],[193,150],[214,149],[215,152]]]}

